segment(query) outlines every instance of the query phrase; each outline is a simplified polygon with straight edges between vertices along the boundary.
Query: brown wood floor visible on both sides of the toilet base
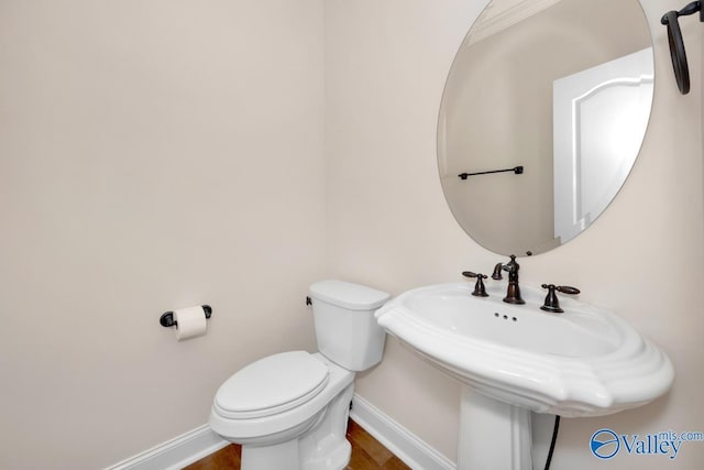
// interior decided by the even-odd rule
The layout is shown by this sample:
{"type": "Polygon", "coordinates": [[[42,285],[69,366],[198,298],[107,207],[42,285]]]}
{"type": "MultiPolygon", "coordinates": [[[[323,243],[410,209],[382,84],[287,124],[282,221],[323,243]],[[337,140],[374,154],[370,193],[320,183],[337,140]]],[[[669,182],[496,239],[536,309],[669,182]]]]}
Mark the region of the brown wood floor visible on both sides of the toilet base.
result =
{"type": "MultiPolygon", "coordinates": [[[[345,470],[410,470],[352,419],[348,426],[348,440],[352,444],[352,458],[345,470]]],[[[241,453],[241,447],[233,444],[184,470],[240,470],[241,453]]]]}

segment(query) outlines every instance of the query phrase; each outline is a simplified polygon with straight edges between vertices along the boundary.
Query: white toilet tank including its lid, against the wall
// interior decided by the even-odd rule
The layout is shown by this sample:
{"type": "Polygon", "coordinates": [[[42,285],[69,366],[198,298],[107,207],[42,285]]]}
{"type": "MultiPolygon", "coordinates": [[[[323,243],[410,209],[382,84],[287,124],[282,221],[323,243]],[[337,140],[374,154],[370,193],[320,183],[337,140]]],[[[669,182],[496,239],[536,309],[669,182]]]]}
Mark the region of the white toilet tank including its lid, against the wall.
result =
{"type": "Polygon", "coordinates": [[[310,286],[318,351],[350,371],[363,371],[382,360],[386,332],[374,311],[391,296],[343,281],[310,286]]]}

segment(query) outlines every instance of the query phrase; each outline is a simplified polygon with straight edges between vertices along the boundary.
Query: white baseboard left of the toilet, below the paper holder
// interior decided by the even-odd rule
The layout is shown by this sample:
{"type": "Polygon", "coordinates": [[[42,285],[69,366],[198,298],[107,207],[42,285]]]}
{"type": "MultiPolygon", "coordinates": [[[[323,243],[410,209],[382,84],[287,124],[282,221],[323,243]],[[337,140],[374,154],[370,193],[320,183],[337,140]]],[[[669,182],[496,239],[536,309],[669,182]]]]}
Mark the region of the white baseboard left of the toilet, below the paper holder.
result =
{"type": "Polygon", "coordinates": [[[229,444],[206,424],[106,470],[180,470],[229,444]]]}

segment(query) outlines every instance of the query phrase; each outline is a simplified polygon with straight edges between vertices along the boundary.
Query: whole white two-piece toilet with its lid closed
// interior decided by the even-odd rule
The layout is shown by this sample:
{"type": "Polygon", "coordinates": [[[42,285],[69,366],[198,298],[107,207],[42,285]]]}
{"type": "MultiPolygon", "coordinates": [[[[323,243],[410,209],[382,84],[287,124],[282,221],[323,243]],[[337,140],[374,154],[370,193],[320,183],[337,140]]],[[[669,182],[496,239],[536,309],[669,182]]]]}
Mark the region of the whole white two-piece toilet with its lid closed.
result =
{"type": "Polygon", "coordinates": [[[242,446],[242,470],[341,470],[354,373],[377,364],[386,334],[374,311],[389,295],[342,281],[310,286],[318,352],[282,352],[218,390],[210,427],[242,446]]]}

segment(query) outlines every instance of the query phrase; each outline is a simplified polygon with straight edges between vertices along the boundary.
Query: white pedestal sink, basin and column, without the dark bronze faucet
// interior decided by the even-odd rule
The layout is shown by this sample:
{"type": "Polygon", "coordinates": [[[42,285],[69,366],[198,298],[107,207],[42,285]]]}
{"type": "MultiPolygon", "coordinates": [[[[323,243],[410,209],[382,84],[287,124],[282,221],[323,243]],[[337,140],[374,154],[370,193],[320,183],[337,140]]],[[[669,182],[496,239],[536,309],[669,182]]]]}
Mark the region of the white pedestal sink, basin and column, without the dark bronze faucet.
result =
{"type": "Polygon", "coordinates": [[[531,468],[530,412],[598,416],[641,406],[674,379],[668,357],[615,314],[521,286],[525,305],[472,286],[408,291],[376,313],[378,324],[462,383],[458,470],[531,468]]]}

